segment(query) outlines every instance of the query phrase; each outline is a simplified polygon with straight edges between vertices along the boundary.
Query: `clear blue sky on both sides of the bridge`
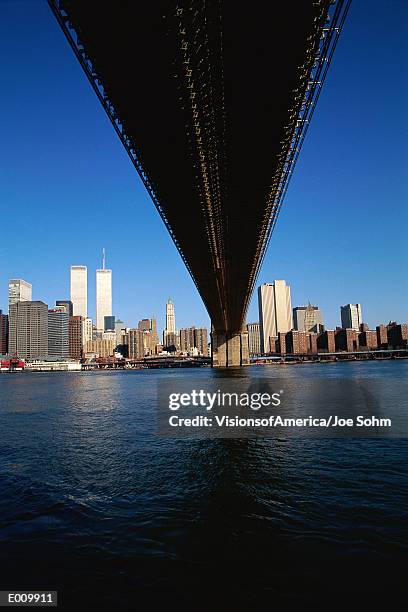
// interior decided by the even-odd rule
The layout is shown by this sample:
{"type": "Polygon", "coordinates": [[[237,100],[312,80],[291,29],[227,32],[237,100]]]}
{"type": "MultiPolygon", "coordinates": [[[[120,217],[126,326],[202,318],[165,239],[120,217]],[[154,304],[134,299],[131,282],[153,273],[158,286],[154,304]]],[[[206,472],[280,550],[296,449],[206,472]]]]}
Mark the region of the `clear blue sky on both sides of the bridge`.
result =
{"type": "MultiPolygon", "coordinates": [[[[128,325],[173,298],[178,327],[208,316],[153,204],[45,0],[0,0],[0,308],[7,281],[69,296],[102,247],[114,314],[128,325]]],[[[260,282],[328,327],[361,302],[370,325],[408,321],[406,0],[354,0],[270,243],[260,282]]],[[[135,66],[137,78],[137,66],[135,66]]],[[[257,320],[256,297],[248,320],[257,320]]]]}

